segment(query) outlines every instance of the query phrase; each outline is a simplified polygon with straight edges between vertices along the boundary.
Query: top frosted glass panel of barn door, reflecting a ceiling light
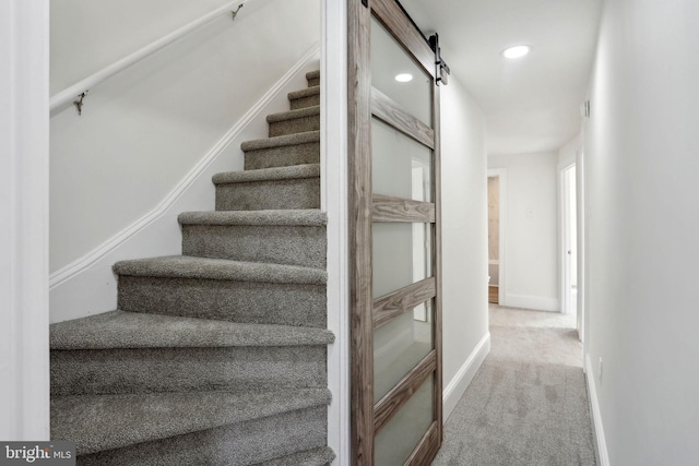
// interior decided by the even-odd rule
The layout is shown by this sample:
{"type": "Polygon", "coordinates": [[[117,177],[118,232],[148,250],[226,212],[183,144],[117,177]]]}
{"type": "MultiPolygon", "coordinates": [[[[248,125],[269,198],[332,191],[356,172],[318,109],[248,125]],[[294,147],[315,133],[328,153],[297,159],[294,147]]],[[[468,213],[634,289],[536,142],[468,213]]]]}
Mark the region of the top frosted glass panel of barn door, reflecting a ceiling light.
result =
{"type": "Polygon", "coordinates": [[[374,17],[371,19],[371,85],[431,128],[431,76],[423,71],[413,57],[407,55],[374,17]],[[410,75],[411,80],[396,81],[396,76],[400,75],[410,75]]]}

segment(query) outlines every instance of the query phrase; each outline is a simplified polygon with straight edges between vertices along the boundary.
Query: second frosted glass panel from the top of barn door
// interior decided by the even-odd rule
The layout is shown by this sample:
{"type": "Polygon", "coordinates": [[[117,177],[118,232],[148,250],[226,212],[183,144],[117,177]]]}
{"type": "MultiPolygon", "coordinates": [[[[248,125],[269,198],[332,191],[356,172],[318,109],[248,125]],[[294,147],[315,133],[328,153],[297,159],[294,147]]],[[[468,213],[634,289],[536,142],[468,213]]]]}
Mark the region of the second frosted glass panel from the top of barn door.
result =
{"type": "Polygon", "coordinates": [[[375,194],[433,202],[433,151],[391,126],[371,119],[375,194]]]}

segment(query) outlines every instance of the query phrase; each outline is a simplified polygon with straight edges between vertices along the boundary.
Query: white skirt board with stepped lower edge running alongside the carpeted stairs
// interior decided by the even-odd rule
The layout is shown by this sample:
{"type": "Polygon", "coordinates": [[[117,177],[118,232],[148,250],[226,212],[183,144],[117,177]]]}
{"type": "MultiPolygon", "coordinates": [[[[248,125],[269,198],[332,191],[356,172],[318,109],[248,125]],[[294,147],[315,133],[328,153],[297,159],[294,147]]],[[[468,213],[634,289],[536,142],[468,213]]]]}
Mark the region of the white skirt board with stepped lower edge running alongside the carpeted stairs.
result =
{"type": "Polygon", "coordinates": [[[117,304],[115,262],[142,256],[179,254],[181,236],[177,215],[206,211],[214,205],[211,177],[241,169],[241,142],[266,134],[266,115],[283,111],[286,94],[298,88],[305,72],[318,62],[320,46],[309,49],[151,212],[137,219],[82,258],[49,277],[50,322],[61,322],[114,310],[117,304]]]}

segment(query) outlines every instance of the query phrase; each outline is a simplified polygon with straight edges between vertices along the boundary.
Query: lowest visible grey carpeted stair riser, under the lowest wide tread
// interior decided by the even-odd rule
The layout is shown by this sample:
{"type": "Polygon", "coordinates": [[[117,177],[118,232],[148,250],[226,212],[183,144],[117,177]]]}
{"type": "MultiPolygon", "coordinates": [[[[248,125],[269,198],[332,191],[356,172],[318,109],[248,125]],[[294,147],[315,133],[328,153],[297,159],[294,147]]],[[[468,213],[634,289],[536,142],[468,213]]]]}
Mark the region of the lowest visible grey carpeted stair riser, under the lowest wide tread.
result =
{"type": "Polygon", "coordinates": [[[80,466],[253,465],[325,444],[325,406],[78,456],[80,466]]]}

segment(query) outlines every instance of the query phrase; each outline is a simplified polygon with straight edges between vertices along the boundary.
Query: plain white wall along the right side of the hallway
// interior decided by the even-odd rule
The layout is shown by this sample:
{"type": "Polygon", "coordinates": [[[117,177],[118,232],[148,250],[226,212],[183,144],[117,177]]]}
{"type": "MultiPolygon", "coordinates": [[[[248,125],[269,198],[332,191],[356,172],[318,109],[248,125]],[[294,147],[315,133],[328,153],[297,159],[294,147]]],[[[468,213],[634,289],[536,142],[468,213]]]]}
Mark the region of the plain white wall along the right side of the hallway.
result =
{"type": "Polygon", "coordinates": [[[607,0],[602,14],[584,145],[587,362],[613,465],[699,464],[697,23],[696,1],[607,0]]]}

